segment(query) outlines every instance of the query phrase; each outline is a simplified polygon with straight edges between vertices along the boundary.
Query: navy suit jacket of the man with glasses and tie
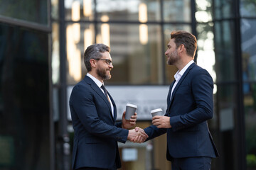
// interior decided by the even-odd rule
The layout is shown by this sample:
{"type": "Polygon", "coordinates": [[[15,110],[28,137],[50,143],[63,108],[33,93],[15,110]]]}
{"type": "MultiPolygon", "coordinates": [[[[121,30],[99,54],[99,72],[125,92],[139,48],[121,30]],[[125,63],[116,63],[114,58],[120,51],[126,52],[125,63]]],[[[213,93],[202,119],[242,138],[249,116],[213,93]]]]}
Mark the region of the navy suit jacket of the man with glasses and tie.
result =
{"type": "MultiPolygon", "coordinates": [[[[110,96],[110,94],[108,94],[110,96]]],[[[85,76],[76,84],[70,96],[70,112],[75,130],[72,168],[98,167],[112,169],[121,166],[117,141],[126,142],[128,130],[115,123],[110,103],[99,86],[85,76]]]]}

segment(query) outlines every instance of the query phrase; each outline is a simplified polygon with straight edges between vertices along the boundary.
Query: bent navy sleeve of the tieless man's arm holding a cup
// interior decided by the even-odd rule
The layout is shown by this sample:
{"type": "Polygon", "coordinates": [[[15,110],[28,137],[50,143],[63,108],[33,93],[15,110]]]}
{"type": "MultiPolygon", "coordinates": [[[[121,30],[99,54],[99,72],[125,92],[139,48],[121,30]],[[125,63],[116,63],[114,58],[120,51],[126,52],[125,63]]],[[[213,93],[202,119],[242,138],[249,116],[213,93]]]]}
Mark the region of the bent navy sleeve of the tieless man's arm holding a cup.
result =
{"type": "MultiPolygon", "coordinates": [[[[181,130],[213,118],[213,79],[203,69],[191,78],[192,94],[196,107],[189,113],[171,116],[172,130],[181,130]]],[[[183,103],[184,106],[186,103],[183,103]]],[[[175,107],[175,106],[174,106],[175,107]]]]}

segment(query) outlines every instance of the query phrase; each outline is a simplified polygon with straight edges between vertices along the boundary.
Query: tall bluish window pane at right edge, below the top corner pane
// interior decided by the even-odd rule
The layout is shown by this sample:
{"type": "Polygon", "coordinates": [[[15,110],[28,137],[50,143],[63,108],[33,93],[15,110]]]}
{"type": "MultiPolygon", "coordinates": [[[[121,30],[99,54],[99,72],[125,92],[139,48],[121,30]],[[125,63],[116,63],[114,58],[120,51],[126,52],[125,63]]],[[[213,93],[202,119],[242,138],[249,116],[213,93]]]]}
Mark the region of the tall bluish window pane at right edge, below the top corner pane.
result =
{"type": "Polygon", "coordinates": [[[244,81],[256,81],[256,20],[242,19],[242,76],[244,81]]]}

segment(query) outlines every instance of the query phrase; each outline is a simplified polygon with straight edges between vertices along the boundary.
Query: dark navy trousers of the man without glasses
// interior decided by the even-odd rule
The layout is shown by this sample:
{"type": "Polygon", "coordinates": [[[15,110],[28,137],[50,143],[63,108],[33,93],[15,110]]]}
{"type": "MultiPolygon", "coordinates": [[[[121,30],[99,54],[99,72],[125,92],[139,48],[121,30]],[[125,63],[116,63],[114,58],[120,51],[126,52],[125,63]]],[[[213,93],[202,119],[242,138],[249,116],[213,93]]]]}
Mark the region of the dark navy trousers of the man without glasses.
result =
{"type": "Polygon", "coordinates": [[[171,170],[210,170],[210,157],[173,158],[171,170]]]}

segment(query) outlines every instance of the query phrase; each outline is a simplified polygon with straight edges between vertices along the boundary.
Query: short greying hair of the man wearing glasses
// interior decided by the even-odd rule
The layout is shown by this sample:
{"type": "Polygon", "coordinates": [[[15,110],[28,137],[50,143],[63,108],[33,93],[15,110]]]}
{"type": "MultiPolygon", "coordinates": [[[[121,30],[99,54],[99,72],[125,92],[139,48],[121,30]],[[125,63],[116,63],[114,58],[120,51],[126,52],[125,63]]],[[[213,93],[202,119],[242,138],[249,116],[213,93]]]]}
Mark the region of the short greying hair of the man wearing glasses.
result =
{"type": "Polygon", "coordinates": [[[94,44],[87,47],[84,54],[84,63],[87,72],[90,72],[92,70],[90,60],[101,58],[103,52],[110,52],[110,47],[104,44],[94,44]]]}

